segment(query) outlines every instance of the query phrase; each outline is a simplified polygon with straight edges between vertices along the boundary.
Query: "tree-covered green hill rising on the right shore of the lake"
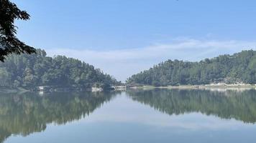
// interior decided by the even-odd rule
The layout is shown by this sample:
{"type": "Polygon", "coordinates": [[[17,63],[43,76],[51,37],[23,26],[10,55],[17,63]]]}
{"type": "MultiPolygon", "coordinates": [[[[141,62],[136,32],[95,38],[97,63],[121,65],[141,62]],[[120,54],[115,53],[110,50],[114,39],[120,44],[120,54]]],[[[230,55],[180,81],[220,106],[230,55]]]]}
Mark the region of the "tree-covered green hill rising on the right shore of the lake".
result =
{"type": "Polygon", "coordinates": [[[127,79],[127,84],[154,86],[225,82],[256,84],[256,51],[241,51],[199,62],[168,60],[127,79]]]}

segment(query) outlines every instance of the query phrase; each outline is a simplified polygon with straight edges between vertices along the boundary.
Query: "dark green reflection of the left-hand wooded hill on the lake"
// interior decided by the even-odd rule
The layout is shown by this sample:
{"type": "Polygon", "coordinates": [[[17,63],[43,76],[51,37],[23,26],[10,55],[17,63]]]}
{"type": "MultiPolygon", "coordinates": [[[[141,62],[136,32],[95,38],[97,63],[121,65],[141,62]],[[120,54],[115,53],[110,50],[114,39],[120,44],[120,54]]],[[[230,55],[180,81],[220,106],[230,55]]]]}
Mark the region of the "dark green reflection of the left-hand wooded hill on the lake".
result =
{"type": "Polygon", "coordinates": [[[65,124],[87,117],[119,92],[1,94],[0,142],[12,134],[42,132],[47,124],[65,124]]]}

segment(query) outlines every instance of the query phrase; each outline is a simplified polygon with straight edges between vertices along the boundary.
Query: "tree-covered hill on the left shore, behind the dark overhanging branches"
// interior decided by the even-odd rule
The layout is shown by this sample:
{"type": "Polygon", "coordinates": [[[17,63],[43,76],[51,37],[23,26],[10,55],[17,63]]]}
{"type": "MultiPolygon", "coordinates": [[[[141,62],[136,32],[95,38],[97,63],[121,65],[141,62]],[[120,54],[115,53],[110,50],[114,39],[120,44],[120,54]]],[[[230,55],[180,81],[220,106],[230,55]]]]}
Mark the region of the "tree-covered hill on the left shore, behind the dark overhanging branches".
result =
{"type": "Polygon", "coordinates": [[[93,85],[109,87],[119,84],[100,69],[66,56],[46,56],[37,49],[37,54],[12,54],[0,63],[1,87],[55,87],[88,88],[93,85]]]}

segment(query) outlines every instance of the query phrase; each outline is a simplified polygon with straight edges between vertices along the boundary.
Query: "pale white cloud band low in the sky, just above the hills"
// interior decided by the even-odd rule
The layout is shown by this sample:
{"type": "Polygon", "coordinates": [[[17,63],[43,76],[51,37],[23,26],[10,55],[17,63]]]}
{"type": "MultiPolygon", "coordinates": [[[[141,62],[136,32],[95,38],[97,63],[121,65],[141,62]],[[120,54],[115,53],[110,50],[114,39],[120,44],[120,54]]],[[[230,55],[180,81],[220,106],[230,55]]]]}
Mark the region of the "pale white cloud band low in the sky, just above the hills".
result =
{"type": "Polygon", "coordinates": [[[119,50],[47,49],[47,54],[65,55],[93,64],[118,80],[149,69],[167,59],[198,61],[219,54],[233,54],[244,49],[256,49],[256,41],[219,41],[176,38],[170,43],[158,43],[144,48],[119,50]]]}

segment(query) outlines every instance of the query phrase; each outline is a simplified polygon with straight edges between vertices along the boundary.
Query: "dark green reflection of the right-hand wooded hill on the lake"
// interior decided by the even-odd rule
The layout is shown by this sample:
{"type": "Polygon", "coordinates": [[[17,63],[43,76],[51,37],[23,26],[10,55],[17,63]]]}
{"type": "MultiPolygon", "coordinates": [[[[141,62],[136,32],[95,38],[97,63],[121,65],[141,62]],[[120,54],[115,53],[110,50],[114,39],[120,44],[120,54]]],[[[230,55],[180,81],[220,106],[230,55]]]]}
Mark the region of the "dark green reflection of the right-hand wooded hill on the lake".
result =
{"type": "Polygon", "coordinates": [[[200,89],[132,90],[129,96],[165,114],[201,112],[224,119],[256,122],[256,91],[212,92],[200,89]]]}

